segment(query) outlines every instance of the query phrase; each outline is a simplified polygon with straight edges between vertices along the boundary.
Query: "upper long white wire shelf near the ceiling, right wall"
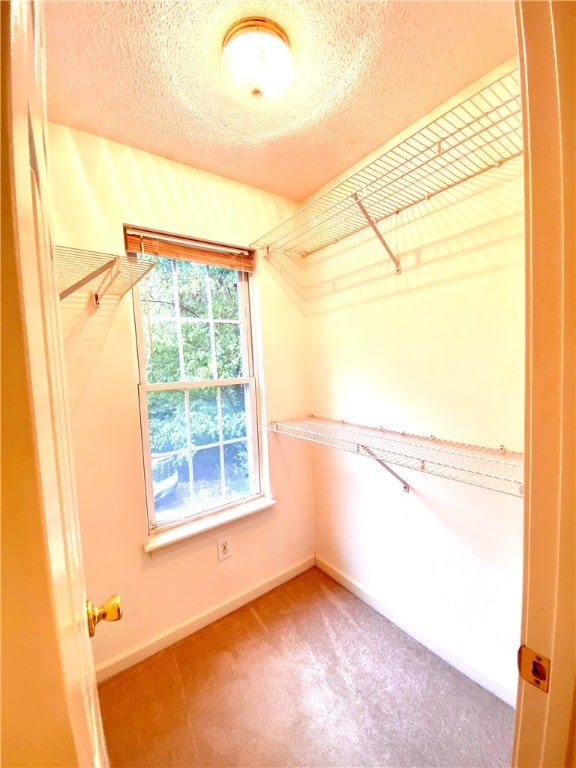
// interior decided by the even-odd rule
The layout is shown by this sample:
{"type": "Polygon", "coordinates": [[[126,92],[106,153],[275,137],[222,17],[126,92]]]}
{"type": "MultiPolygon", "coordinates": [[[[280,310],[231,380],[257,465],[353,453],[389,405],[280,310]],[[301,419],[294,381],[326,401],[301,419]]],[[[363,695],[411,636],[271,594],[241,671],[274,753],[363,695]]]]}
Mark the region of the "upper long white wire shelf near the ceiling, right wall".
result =
{"type": "MultiPolygon", "coordinates": [[[[344,181],[260,237],[253,248],[309,256],[498,168],[523,151],[517,70],[477,93],[368,161],[344,181]]],[[[383,242],[388,255],[400,265],[383,242]]]]}

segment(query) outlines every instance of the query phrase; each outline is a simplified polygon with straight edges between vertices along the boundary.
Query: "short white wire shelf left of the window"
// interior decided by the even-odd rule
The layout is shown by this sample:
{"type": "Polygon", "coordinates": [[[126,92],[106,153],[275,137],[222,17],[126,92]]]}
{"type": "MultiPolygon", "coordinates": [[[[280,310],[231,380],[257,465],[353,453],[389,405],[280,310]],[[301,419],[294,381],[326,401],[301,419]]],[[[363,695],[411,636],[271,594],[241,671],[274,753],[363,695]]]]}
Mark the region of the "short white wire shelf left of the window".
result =
{"type": "Polygon", "coordinates": [[[54,247],[60,300],[76,291],[92,294],[96,304],[105,294],[124,296],[153,267],[153,261],[125,253],[100,253],[63,245],[54,247]]]}

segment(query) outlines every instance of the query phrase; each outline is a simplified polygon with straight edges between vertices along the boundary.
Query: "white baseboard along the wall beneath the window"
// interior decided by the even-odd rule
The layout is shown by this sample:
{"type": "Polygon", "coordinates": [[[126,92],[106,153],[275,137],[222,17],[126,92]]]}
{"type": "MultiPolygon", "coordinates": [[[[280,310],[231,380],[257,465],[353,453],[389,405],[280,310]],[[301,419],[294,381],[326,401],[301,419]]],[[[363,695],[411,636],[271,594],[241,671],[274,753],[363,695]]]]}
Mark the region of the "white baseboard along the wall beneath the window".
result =
{"type": "Polygon", "coordinates": [[[96,680],[100,683],[108,677],[112,677],[112,675],[137,664],[139,661],[143,661],[149,656],[164,650],[164,648],[168,648],[168,646],[173,643],[183,640],[193,632],[197,632],[199,629],[208,626],[208,624],[211,624],[213,621],[221,619],[222,616],[232,613],[232,611],[241,608],[251,600],[255,600],[257,597],[264,595],[271,589],[280,586],[280,584],[284,584],[284,582],[290,581],[290,579],[293,579],[295,576],[304,573],[304,571],[311,568],[314,563],[314,557],[306,558],[305,560],[290,566],[290,568],[275,574],[271,578],[260,582],[246,592],[242,592],[223,603],[219,603],[209,611],[195,616],[189,621],[163,632],[161,635],[156,635],[145,643],[133,646],[124,653],[117,654],[106,661],[100,662],[100,664],[96,666],[96,680]]]}

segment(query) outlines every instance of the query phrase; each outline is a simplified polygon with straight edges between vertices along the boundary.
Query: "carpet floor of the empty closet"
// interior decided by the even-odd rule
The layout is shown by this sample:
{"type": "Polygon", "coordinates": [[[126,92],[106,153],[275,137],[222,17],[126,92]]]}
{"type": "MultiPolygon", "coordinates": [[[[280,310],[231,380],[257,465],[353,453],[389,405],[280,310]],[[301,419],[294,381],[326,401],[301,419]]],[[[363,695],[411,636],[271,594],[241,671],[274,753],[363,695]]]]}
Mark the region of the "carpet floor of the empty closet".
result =
{"type": "Polygon", "coordinates": [[[510,765],[513,709],[317,568],[99,691],[115,768],[510,765]]]}

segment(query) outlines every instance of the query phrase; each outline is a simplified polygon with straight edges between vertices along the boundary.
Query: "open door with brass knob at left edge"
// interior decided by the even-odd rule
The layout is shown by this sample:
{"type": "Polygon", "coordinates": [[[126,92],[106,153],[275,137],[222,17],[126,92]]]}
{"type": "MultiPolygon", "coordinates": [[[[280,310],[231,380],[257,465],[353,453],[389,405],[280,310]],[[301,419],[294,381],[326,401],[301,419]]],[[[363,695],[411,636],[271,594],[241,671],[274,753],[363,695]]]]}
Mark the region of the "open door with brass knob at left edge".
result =
{"type": "Polygon", "coordinates": [[[42,6],[2,20],[2,764],[107,766],[51,254],[42,6]]]}

